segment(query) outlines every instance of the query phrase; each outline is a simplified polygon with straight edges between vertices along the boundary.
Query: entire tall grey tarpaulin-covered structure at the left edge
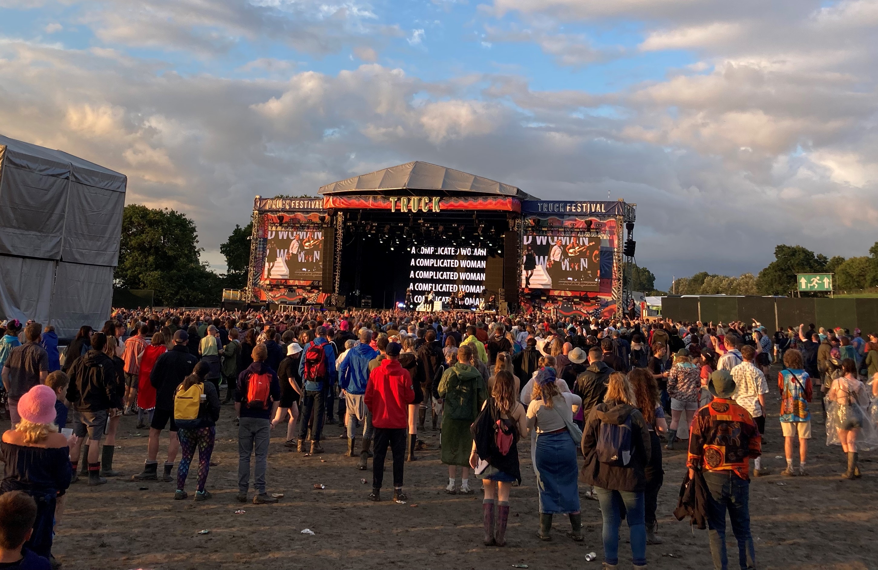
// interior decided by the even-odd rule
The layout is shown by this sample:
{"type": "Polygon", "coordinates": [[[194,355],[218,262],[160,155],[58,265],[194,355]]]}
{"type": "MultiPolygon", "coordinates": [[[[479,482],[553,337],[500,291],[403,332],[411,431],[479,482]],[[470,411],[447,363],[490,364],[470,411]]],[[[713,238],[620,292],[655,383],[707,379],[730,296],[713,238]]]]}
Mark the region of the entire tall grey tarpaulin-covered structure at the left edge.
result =
{"type": "Polygon", "coordinates": [[[109,317],[125,175],[0,136],[0,317],[59,336],[109,317]]]}

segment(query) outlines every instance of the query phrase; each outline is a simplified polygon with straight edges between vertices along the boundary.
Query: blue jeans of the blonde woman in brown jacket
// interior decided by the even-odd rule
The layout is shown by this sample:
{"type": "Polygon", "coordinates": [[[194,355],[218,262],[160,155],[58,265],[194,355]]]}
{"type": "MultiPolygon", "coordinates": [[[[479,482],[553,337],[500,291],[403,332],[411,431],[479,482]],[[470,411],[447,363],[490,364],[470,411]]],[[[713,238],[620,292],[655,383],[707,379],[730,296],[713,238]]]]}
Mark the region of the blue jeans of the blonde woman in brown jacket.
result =
{"type": "Polygon", "coordinates": [[[631,559],[634,566],[646,566],[646,524],[644,524],[644,492],[614,491],[595,487],[603,516],[604,562],[619,563],[619,525],[624,504],[631,532],[631,559]]]}

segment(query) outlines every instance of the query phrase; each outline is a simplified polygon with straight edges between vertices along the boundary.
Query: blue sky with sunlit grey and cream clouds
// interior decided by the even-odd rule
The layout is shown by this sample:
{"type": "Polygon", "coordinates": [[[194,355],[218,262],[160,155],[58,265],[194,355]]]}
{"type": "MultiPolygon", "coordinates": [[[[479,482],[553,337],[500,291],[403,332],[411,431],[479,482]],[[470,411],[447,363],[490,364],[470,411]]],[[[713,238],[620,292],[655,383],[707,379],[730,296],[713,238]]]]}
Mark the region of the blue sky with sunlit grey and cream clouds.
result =
{"type": "Polygon", "coordinates": [[[426,160],[637,203],[658,277],[878,237],[878,0],[0,0],[0,134],[128,176],[202,259],[253,196],[426,160]]]}

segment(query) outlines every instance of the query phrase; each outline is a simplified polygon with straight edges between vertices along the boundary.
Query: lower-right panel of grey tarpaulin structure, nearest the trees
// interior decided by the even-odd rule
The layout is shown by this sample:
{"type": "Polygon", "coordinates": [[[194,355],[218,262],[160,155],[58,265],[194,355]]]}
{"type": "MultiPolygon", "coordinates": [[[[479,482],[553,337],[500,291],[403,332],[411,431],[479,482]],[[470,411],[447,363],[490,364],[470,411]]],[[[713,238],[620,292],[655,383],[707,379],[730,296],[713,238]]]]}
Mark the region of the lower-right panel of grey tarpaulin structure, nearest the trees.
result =
{"type": "Polygon", "coordinates": [[[112,267],[58,264],[51,317],[58,336],[72,336],[83,324],[100,330],[110,317],[112,271],[112,267]]]}

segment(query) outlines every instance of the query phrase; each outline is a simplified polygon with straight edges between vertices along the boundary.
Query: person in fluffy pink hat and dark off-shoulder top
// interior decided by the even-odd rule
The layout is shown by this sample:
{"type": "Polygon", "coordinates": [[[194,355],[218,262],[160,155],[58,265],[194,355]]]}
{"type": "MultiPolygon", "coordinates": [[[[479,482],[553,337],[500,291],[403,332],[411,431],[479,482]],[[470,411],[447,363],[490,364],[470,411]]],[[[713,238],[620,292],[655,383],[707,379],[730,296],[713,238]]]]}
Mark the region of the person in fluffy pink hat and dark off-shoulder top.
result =
{"type": "Polygon", "coordinates": [[[4,432],[0,443],[0,494],[24,491],[37,502],[37,518],[25,547],[47,559],[52,559],[55,510],[60,517],[72,474],[68,440],[54,423],[56,401],[54,390],[43,384],[28,390],[18,399],[18,424],[4,432]]]}

